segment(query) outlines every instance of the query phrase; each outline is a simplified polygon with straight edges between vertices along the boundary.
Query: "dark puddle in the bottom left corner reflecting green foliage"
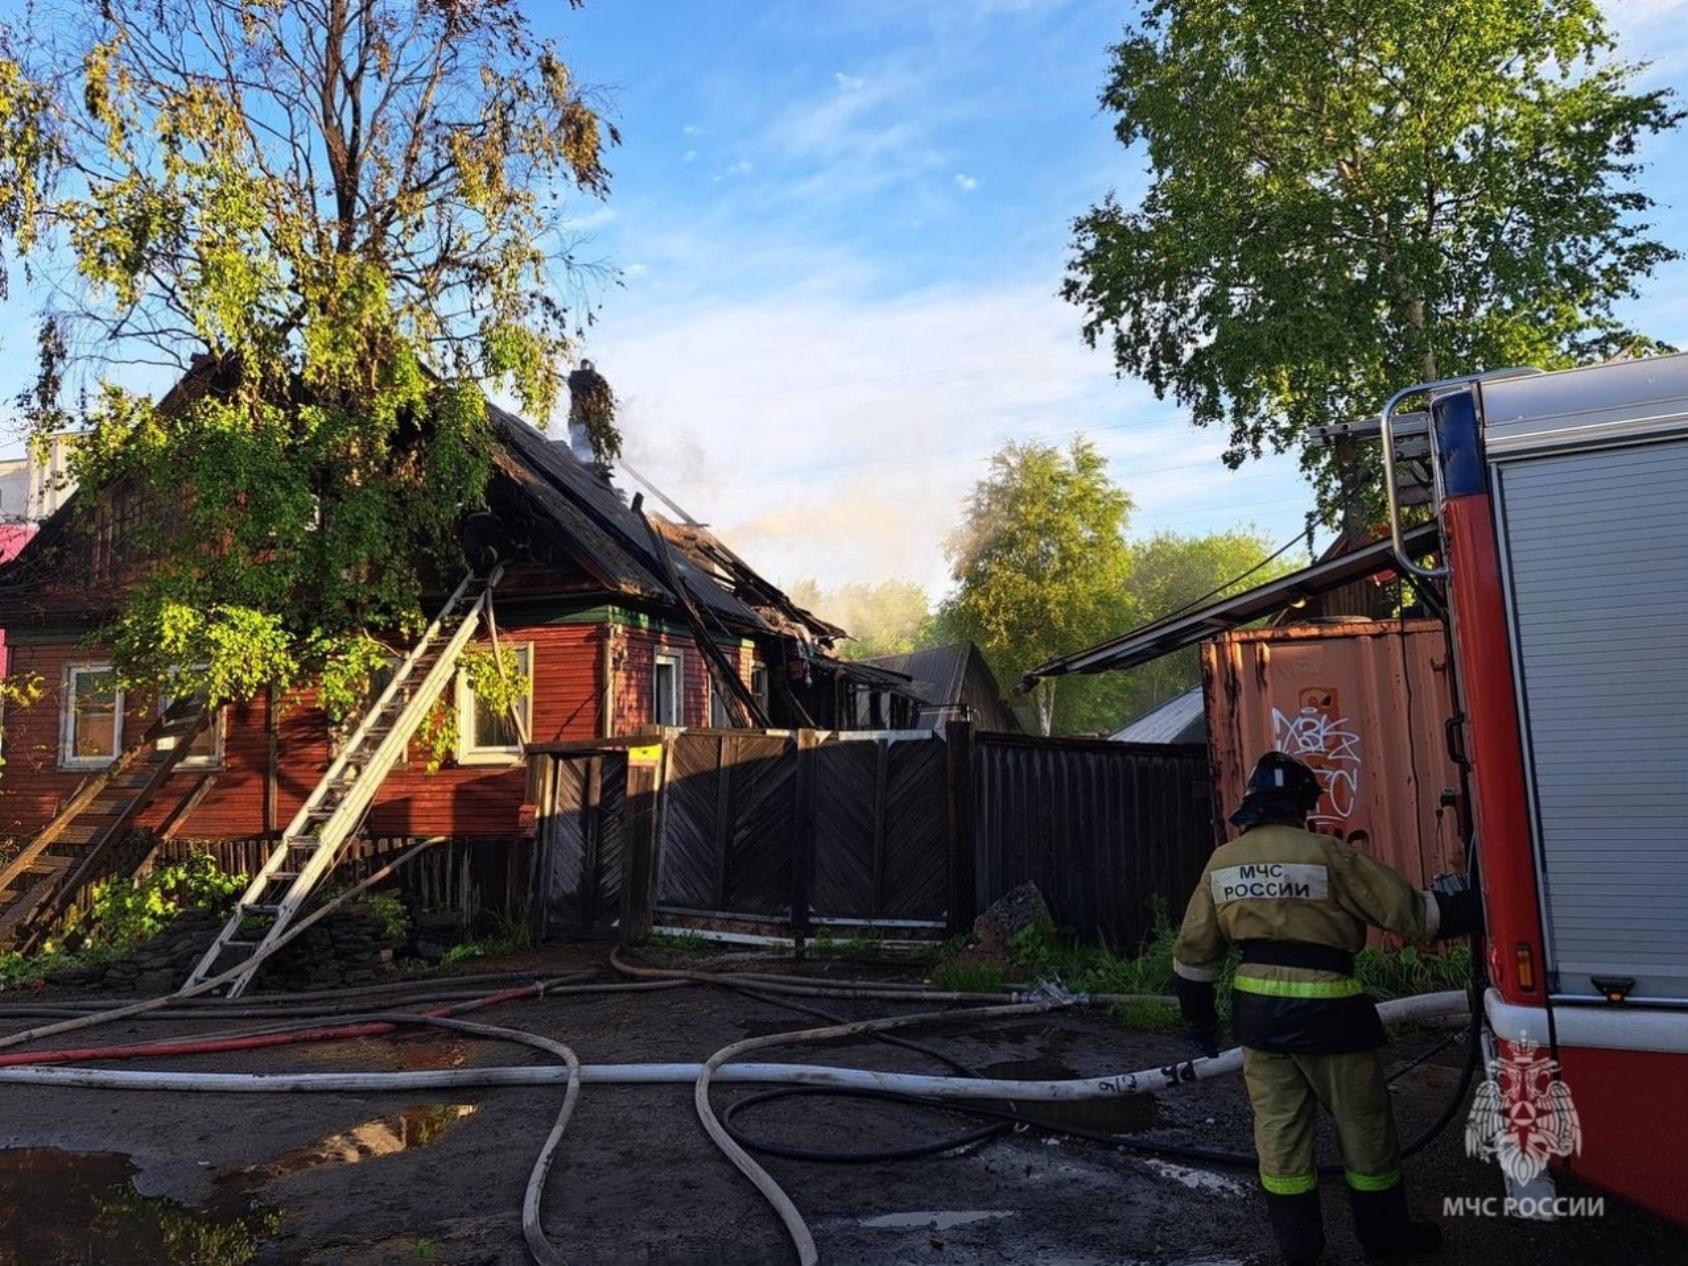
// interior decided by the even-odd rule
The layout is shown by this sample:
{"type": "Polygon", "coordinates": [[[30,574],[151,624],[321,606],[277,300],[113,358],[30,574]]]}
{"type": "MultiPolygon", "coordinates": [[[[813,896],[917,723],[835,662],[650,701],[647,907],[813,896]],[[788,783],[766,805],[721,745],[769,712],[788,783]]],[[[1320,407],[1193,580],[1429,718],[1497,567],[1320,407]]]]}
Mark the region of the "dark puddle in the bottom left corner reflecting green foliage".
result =
{"type": "Polygon", "coordinates": [[[246,1266],[282,1215],[219,1193],[140,1195],[115,1151],[0,1150],[0,1266],[246,1266]]]}

